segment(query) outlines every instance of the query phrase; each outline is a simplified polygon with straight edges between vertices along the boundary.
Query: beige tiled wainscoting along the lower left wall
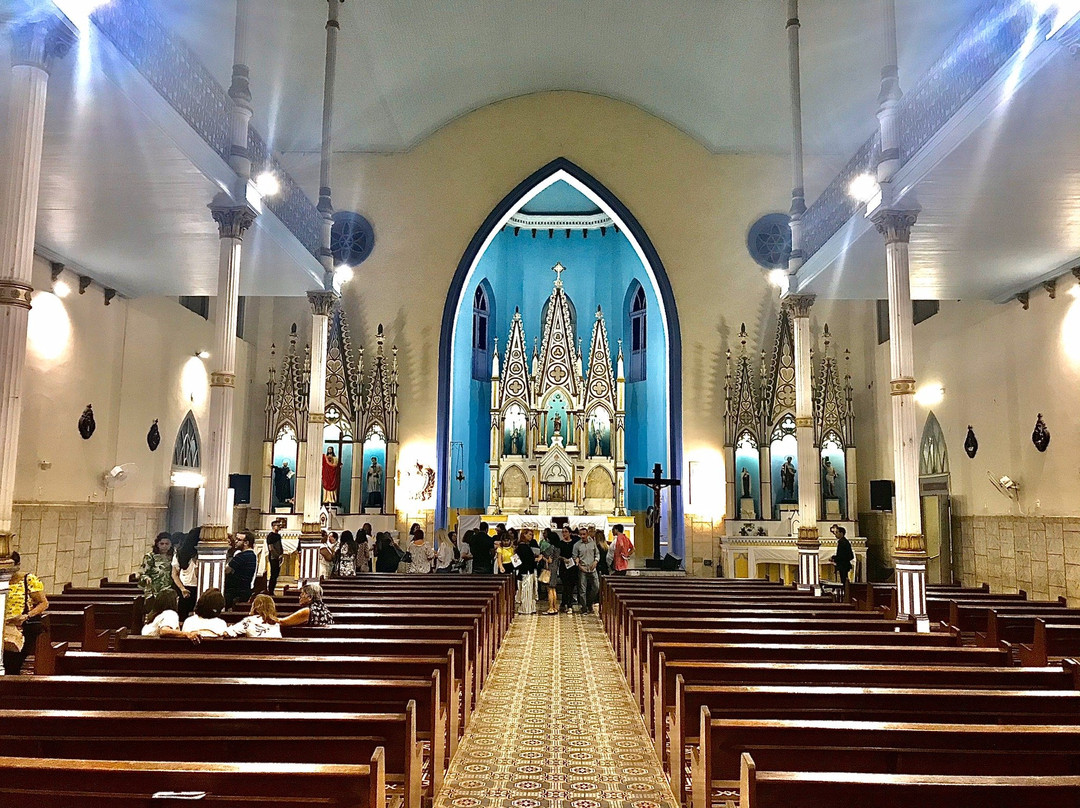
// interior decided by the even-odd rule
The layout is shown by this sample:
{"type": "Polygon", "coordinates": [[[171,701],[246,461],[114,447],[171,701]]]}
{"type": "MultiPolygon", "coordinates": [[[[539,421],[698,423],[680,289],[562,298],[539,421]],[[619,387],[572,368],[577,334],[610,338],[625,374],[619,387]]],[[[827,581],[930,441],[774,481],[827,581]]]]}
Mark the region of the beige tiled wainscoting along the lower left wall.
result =
{"type": "Polygon", "coordinates": [[[23,569],[41,578],[46,591],[68,581],[95,585],[135,571],[165,529],[165,506],[16,502],[12,529],[23,569]]]}

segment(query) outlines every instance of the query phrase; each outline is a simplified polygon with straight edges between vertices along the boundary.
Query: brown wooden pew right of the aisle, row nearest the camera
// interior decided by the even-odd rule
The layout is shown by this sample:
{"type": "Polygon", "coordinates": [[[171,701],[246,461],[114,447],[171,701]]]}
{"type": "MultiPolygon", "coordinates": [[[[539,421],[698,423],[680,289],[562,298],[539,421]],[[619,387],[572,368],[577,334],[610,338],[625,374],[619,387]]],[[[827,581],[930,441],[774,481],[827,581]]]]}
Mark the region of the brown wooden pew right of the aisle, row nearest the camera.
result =
{"type": "MultiPolygon", "coordinates": [[[[759,755],[761,756],[761,755],[759,755]]],[[[764,757],[764,756],[762,756],[764,757]]],[[[1011,758],[1010,758],[1011,759],[1011,758]]],[[[741,756],[740,808],[874,808],[978,806],[1061,808],[1080,798],[1080,777],[971,777],[791,771],[758,769],[754,755],[741,756]]]]}

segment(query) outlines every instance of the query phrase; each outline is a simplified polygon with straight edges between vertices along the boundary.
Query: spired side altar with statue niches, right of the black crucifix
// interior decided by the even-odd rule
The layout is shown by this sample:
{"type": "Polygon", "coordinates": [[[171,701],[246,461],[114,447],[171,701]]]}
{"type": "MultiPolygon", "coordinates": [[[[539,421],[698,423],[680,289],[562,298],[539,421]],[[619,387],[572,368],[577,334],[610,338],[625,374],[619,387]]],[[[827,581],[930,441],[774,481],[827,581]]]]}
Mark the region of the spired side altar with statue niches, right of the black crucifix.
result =
{"type": "MultiPolygon", "coordinates": [[[[781,306],[771,356],[762,349],[759,369],[747,351],[746,326],[739,348],[727,352],[725,380],[725,468],[727,519],[721,567],[727,578],[797,577],[799,520],[798,443],[795,423],[795,335],[792,311],[781,306]]],[[[813,441],[821,463],[816,475],[821,536],[821,579],[835,580],[833,525],[847,530],[855,552],[854,580],[865,580],[866,540],[858,535],[854,405],[850,362],[840,367],[828,325],[820,362],[813,363],[813,441]]]]}

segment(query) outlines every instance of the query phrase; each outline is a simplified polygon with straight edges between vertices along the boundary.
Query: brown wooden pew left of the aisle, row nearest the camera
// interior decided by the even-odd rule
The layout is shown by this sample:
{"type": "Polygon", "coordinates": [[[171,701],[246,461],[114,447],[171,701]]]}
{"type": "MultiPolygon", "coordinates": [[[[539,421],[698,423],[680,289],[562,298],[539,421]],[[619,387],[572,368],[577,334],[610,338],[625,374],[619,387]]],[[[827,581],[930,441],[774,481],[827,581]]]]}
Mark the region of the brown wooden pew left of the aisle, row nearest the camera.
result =
{"type": "Polygon", "coordinates": [[[188,804],[170,799],[168,793],[202,794],[202,804],[228,808],[387,805],[381,750],[362,766],[0,757],[4,805],[32,802],[41,808],[176,808],[188,804]]]}

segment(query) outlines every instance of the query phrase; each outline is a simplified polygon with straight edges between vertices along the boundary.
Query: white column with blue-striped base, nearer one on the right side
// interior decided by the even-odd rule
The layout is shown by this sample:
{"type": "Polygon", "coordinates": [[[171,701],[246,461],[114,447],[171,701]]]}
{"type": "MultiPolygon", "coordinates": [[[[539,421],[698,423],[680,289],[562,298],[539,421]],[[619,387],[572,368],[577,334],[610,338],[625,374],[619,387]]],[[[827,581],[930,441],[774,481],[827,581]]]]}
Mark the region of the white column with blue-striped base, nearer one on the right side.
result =
{"type": "Polygon", "coordinates": [[[886,240],[889,273],[889,361],[892,380],[892,457],[896,486],[896,617],[927,619],[927,542],[919,510],[919,444],[915,417],[915,360],[912,351],[912,285],[908,242],[918,217],[914,210],[878,211],[873,220],[886,240]]]}

